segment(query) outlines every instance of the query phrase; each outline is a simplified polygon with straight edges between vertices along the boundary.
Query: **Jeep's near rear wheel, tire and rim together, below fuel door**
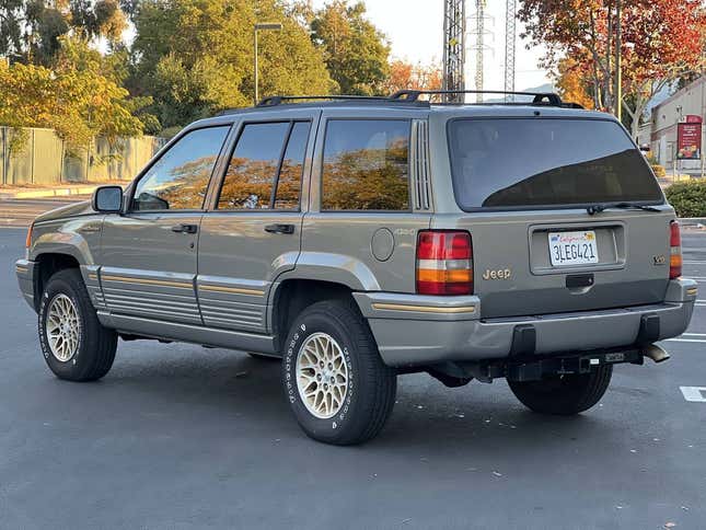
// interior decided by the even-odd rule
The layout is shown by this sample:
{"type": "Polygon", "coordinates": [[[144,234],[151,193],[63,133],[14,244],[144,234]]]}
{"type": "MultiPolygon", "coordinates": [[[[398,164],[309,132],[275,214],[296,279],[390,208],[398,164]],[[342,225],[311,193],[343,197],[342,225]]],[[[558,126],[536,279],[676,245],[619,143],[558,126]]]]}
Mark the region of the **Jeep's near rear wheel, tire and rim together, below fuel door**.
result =
{"type": "Polygon", "coordinates": [[[397,376],[380,358],[368,323],[352,300],[310,306],[291,326],[285,344],[282,385],[297,422],[308,436],[349,446],[368,441],[380,433],[395,403],[397,376]],[[316,358],[332,362],[322,367],[314,362],[316,358]],[[314,369],[314,365],[319,368],[314,369]],[[329,398],[322,398],[327,395],[328,388],[322,380],[332,383],[329,398]],[[303,395],[302,388],[314,396],[303,395]]]}

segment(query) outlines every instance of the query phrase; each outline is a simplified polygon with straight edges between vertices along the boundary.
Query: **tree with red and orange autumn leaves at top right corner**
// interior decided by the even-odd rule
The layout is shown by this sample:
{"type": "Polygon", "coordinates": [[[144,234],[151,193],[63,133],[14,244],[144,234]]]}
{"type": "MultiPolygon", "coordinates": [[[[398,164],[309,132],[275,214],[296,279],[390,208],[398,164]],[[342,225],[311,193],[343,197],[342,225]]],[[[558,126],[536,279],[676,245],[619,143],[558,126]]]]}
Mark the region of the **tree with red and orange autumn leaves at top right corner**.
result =
{"type": "MultiPolygon", "coordinates": [[[[604,110],[613,104],[613,0],[524,0],[519,12],[526,35],[548,46],[545,66],[556,67],[562,56],[579,61],[594,106],[604,110]]],[[[705,24],[701,2],[623,0],[622,105],[634,136],[655,94],[699,68],[705,24]]]]}

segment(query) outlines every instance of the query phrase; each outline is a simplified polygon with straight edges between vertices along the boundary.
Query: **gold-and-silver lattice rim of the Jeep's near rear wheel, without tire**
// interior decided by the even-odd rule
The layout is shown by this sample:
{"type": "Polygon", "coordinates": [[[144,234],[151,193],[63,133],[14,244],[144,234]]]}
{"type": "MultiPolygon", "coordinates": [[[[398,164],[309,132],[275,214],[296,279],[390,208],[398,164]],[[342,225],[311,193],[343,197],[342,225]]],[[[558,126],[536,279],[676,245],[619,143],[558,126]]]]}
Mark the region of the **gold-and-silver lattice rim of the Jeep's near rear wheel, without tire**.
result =
{"type": "Polygon", "coordinates": [[[306,337],[297,355],[297,388],[315,417],[327,419],[338,414],[348,394],[348,366],[334,337],[326,333],[306,337]]]}

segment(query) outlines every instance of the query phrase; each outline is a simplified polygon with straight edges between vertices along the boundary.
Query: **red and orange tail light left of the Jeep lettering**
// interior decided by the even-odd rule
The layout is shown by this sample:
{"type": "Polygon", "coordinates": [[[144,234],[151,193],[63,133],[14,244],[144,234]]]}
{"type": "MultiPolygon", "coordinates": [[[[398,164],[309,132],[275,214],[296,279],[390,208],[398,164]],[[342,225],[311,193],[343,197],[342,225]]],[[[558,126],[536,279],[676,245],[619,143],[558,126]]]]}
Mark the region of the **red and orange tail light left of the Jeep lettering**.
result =
{"type": "Polygon", "coordinates": [[[473,295],[471,234],[451,230],[423,230],[417,238],[417,292],[473,295]]]}

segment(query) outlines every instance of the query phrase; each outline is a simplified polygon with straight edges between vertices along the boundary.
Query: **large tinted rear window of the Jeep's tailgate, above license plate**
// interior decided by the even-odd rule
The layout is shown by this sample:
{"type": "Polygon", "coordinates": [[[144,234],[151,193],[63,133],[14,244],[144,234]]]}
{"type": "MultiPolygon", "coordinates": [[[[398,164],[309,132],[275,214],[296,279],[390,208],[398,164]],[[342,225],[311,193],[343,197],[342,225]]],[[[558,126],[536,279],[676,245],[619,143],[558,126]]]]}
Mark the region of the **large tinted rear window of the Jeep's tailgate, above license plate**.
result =
{"type": "Polygon", "coordinates": [[[464,210],[663,201],[645,158],[610,120],[455,119],[449,150],[464,210]]]}

